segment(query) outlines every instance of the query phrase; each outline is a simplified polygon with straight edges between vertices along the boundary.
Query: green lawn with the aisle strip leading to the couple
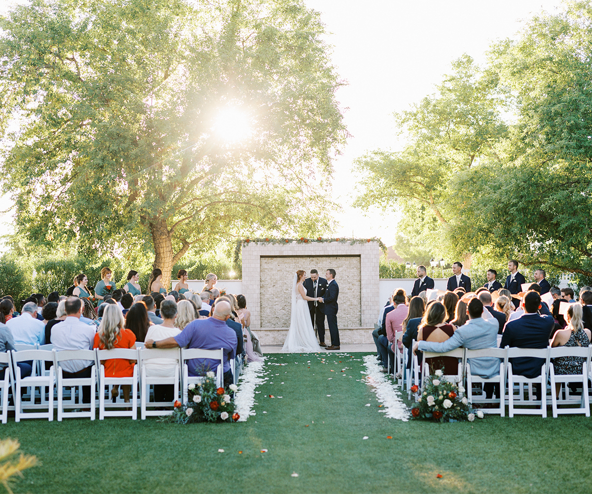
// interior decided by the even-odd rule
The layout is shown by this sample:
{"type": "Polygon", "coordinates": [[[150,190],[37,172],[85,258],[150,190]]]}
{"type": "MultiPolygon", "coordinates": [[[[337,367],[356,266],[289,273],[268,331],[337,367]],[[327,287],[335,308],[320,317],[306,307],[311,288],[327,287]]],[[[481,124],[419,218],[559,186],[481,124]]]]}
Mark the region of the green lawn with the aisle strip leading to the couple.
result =
{"type": "Polygon", "coordinates": [[[24,471],[14,490],[592,492],[590,419],[387,419],[359,381],[362,355],[352,355],[269,356],[257,415],[242,423],[9,419],[2,436],[18,438],[43,462],[24,471]],[[282,362],[288,365],[268,365],[282,362]]]}

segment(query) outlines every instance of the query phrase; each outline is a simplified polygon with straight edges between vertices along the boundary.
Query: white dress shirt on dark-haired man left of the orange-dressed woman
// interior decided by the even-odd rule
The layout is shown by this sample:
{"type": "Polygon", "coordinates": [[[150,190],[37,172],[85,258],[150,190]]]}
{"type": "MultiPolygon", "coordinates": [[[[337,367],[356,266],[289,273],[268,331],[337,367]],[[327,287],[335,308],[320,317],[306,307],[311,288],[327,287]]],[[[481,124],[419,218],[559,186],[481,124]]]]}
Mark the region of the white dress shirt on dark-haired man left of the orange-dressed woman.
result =
{"type": "MultiPolygon", "coordinates": [[[[52,327],[52,343],[56,352],[60,350],[92,350],[95,342],[95,327],[89,326],[78,317],[69,315],[52,327]]],[[[92,360],[65,360],[60,363],[66,372],[78,372],[94,364],[92,360]]]]}

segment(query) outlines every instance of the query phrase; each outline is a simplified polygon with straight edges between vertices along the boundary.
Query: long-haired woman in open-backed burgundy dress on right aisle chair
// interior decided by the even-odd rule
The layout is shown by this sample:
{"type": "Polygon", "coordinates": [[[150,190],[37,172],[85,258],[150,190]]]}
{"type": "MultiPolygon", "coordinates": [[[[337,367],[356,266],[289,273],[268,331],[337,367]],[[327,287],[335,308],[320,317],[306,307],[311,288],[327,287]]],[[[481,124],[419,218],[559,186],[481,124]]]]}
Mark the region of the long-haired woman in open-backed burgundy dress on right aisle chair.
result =
{"type": "MultiPolygon", "coordinates": [[[[417,331],[418,341],[445,342],[454,334],[454,327],[447,324],[446,307],[441,302],[434,302],[427,307],[423,315],[422,322],[417,331]]],[[[454,357],[435,357],[426,359],[430,366],[430,373],[433,374],[438,369],[443,369],[446,375],[458,374],[458,361],[454,357]]]]}

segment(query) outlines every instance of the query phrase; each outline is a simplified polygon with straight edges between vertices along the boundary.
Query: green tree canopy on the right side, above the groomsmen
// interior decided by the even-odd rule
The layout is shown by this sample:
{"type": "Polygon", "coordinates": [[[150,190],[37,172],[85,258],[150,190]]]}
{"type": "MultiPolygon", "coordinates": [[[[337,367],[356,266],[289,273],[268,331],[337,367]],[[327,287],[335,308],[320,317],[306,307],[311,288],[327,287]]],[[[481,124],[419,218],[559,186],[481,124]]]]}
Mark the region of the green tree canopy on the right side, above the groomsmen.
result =
{"type": "Polygon", "coordinates": [[[358,204],[418,216],[405,231],[434,252],[592,276],[591,23],[588,2],[571,2],[494,44],[484,68],[453,63],[436,95],[397,115],[406,148],[359,158],[358,204]]]}

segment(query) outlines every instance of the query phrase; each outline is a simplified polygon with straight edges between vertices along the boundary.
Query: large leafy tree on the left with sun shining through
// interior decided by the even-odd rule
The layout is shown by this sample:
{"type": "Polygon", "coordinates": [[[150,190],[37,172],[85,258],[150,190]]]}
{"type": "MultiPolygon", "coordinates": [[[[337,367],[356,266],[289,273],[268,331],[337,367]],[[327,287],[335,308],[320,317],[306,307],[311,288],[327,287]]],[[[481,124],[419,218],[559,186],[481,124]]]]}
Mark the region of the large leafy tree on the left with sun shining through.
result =
{"type": "Polygon", "coordinates": [[[168,282],[192,245],[323,226],[303,192],[347,132],[303,1],[34,0],[0,28],[2,190],[28,243],[154,249],[168,282]]]}

